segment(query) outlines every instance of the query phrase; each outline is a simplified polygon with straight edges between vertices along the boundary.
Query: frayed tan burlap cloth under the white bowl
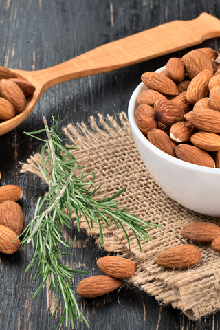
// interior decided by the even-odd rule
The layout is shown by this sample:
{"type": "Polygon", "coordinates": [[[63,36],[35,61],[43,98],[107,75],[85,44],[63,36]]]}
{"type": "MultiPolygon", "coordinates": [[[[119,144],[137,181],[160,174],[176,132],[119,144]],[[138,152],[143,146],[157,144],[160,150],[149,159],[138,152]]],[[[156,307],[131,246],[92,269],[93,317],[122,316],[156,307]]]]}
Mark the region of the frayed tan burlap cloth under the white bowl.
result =
{"type": "MultiPolygon", "coordinates": [[[[145,221],[163,225],[148,233],[153,241],[142,243],[140,252],[132,232],[129,250],[124,232],[115,225],[104,229],[104,249],[116,252],[133,260],[136,274],[129,283],[138,285],[147,294],[155,296],[159,303],[171,304],[191,320],[214,313],[220,308],[220,256],[210,244],[195,244],[201,250],[201,261],[188,270],[169,270],[157,265],[158,254],[174,245],[191,243],[180,234],[181,228],[195,221],[210,221],[219,224],[219,219],[198,214],[170,199],[155,183],[137,152],[128,119],[125,113],[117,118],[98,115],[98,125],[93,117],[84,123],[69,124],[65,134],[69,144],[78,144],[74,155],[78,164],[96,174],[96,186],[102,184],[99,197],[107,197],[124,186],[126,191],[118,198],[120,207],[127,209],[145,221]],[[119,124],[118,124],[119,123],[119,124]],[[101,128],[100,128],[101,127],[101,128]]],[[[42,179],[38,165],[41,155],[35,154],[23,164],[22,173],[35,173],[42,179]]],[[[81,228],[87,230],[82,220],[81,228]]],[[[87,233],[98,239],[98,227],[87,233]]]]}

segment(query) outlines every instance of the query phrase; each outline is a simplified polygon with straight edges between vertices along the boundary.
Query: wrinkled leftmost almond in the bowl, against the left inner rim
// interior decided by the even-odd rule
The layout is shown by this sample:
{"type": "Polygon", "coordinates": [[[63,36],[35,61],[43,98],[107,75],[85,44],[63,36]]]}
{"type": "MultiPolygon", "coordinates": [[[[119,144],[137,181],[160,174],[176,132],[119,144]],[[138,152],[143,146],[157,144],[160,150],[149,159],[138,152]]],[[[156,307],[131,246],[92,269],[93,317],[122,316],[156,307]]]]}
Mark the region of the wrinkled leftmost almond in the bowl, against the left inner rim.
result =
{"type": "Polygon", "coordinates": [[[153,108],[147,104],[140,104],[135,110],[135,122],[140,131],[145,135],[151,129],[156,128],[157,120],[155,119],[153,108]]]}

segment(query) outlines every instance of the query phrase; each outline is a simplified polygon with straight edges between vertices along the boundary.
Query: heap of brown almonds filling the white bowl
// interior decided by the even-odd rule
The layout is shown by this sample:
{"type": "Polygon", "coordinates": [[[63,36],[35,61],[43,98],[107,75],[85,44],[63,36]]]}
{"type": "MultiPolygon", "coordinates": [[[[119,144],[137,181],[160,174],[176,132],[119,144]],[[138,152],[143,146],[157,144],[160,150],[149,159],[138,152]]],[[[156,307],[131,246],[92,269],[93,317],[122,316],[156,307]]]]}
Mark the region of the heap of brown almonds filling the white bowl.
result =
{"type": "Polygon", "coordinates": [[[157,148],[178,159],[220,168],[220,63],[211,48],[170,58],[145,72],[135,122],[157,148]]]}

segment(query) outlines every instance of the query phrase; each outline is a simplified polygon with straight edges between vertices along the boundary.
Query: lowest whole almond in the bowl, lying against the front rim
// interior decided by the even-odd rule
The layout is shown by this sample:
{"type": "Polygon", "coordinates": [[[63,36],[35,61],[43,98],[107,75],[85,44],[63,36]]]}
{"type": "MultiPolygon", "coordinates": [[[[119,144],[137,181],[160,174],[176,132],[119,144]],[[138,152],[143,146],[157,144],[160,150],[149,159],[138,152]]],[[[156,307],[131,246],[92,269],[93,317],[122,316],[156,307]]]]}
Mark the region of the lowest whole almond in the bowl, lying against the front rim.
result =
{"type": "Polygon", "coordinates": [[[191,164],[214,168],[214,160],[206,151],[190,146],[188,144],[179,144],[175,148],[177,158],[191,164]]]}

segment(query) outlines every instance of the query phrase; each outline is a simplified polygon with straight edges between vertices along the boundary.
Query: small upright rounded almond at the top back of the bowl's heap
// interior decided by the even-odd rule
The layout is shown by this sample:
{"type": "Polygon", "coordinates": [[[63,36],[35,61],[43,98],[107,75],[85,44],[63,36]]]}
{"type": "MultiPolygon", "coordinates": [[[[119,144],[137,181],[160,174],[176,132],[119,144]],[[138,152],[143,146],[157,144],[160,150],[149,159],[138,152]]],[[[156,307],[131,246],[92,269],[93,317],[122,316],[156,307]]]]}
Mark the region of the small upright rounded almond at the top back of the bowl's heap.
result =
{"type": "Polygon", "coordinates": [[[184,80],[186,76],[184,61],[177,57],[170,58],[166,63],[166,76],[175,83],[180,83],[184,80]]]}

